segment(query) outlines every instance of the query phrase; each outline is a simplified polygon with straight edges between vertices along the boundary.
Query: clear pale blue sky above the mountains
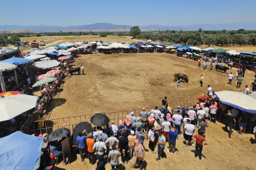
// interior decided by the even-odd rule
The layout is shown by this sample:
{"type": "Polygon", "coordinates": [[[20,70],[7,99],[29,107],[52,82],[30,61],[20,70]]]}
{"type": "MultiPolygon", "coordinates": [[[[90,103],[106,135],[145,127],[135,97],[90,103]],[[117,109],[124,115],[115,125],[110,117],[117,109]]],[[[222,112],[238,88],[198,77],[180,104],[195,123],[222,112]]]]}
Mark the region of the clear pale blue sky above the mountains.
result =
{"type": "Polygon", "coordinates": [[[1,2],[0,25],[194,25],[256,21],[255,0],[13,0],[1,2]]]}

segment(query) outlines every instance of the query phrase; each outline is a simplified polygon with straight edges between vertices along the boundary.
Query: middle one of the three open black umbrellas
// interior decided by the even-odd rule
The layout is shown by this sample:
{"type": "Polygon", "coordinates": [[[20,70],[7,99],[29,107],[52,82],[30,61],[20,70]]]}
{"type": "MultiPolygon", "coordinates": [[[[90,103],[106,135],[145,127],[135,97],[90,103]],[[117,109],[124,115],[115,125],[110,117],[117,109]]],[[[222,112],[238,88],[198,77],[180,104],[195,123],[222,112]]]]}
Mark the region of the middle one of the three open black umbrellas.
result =
{"type": "MultiPolygon", "coordinates": [[[[93,127],[91,127],[91,124],[88,122],[80,122],[78,125],[74,127],[73,130],[73,145],[76,145],[76,137],[78,137],[78,133],[86,130],[87,133],[93,132],[93,127]]],[[[86,135],[86,133],[83,133],[83,135],[86,135]]]]}

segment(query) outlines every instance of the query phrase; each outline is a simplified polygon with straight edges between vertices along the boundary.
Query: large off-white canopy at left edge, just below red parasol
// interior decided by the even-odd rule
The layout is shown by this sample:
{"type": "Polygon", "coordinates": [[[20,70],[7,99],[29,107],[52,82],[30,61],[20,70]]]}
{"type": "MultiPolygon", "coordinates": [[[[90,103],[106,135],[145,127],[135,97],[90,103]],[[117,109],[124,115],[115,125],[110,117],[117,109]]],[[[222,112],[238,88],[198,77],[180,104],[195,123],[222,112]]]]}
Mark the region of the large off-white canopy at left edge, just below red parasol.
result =
{"type": "Polygon", "coordinates": [[[0,98],[0,122],[10,120],[37,105],[37,96],[18,94],[0,98]]]}

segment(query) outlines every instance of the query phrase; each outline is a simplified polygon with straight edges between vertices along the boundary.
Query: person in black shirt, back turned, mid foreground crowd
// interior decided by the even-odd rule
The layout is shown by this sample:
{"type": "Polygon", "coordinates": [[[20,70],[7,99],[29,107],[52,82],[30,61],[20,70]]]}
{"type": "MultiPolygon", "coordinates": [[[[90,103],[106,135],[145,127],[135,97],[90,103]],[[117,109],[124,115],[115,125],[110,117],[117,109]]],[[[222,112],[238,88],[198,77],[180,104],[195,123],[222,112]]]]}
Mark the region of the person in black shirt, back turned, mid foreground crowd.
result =
{"type": "Polygon", "coordinates": [[[122,164],[124,164],[124,162],[126,162],[126,164],[128,164],[129,159],[128,159],[128,150],[129,150],[129,142],[127,137],[125,137],[125,132],[121,133],[122,137],[119,139],[119,149],[121,152],[121,157],[122,157],[122,164]]]}

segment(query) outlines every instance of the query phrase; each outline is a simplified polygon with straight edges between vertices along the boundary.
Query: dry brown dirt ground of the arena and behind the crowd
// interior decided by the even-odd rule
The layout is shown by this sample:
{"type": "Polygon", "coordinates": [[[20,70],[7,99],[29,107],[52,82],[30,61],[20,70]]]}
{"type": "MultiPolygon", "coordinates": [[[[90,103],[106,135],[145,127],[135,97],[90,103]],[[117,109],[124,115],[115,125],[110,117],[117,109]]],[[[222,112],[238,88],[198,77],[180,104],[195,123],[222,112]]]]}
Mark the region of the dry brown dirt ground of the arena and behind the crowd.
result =
{"type": "MultiPolygon", "coordinates": [[[[164,96],[168,96],[169,102],[197,98],[200,93],[207,93],[207,84],[211,84],[213,91],[238,91],[235,80],[233,85],[227,84],[228,73],[210,71],[209,67],[206,71],[197,69],[197,62],[170,54],[80,55],[74,65],[83,65],[86,75],[66,79],[50,118],[161,105],[164,96]],[[181,82],[180,88],[175,88],[172,78],[175,72],[187,74],[189,83],[181,82]],[[201,74],[203,88],[199,88],[201,74]]],[[[252,75],[246,74],[241,89],[252,79],[252,75]]],[[[209,145],[204,145],[202,152],[204,161],[196,159],[192,152],[195,148],[186,149],[179,136],[174,156],[165,149],[167,159],[156,162],[157,155],[146,152],[147,169],[255,169],[256,147],[250,142],[253,135],[239,135],[234,130],[229,139],[222,127],[221,123],[209,123],[206,130],[209,145]]],[[[148,142],[145,146],[148,149],[148,142]]],[[[57,169],[94,167],[88,164],[88,159],[81,164],[80,157],[74,156],[72,161],[69,166],[59,164],[57,169]]],[[[131,169],[131,165],[130,161],[122,169],[131,169]]],[[[110,164],[106,167],[111,169],[110,164]]]]}

